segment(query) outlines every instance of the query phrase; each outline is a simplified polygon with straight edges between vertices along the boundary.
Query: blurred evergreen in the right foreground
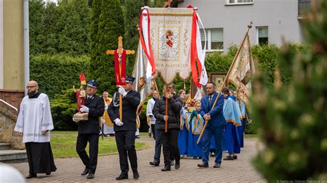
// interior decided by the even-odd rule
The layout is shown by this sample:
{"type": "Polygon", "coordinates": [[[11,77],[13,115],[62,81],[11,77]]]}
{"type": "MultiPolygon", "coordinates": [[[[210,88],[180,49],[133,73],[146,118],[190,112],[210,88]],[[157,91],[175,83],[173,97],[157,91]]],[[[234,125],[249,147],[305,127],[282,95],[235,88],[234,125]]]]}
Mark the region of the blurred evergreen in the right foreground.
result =
{"type": "Polygon", "coordinates": [[[264,144],[255,166],[269,182],[327,177],[327,1],[311,3],[304,23],[308,51],[295,54],[284,44],[277,56],[288,85],[279,69],[274,87],[262,74],[252,83],[252,117],[264,144]]]}

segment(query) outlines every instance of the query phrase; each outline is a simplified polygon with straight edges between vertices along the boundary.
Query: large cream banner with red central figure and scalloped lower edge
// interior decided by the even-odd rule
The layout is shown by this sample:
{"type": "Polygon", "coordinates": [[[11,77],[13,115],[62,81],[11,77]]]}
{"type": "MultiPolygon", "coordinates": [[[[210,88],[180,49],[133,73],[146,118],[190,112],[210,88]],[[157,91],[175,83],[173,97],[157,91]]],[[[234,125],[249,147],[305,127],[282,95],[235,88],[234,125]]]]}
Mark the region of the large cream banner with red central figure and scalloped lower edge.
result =
{"type": "Polygon", "coordinates": [[[190,76],[192,8],[149,8],[150,40],[157,73],[165,83],[190,76]]]}

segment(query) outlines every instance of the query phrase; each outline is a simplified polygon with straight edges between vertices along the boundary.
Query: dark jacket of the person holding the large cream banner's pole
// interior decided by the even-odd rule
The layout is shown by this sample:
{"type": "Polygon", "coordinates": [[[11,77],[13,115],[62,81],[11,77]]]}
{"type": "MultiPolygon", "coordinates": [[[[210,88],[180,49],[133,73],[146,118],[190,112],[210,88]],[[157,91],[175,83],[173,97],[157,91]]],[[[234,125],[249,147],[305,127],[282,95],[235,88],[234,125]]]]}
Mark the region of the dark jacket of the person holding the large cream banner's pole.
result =
{"type": "MultiPolygon", "coordinates": [[[[183,106],[183,100],[176,94],[172,98],[168,99],[168,129],[179,129],[180,125],[180,111],[183,106]]],[[[166,96],[160,98],[155,103],[155,107],[152,110],[152,114],[160,121],[160,129],[165,129],[164,116],[166,114],[166,96]]]]}

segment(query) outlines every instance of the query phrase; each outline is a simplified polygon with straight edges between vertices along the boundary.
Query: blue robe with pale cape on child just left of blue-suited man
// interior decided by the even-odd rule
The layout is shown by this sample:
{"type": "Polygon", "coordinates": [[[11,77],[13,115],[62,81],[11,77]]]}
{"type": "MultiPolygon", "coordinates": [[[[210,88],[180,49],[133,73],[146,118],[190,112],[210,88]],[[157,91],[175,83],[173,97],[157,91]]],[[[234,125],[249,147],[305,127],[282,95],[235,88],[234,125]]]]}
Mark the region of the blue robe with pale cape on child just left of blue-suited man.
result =
{"type": "Polygon", "coordinates": [[[188,131],[188,155],[193,157],[202,157],[202,140],[197,144],[201,130],[204,127],[204,119],[199,114],[199,111],[192,111],[188,117],[190,130],[188,131]]]}

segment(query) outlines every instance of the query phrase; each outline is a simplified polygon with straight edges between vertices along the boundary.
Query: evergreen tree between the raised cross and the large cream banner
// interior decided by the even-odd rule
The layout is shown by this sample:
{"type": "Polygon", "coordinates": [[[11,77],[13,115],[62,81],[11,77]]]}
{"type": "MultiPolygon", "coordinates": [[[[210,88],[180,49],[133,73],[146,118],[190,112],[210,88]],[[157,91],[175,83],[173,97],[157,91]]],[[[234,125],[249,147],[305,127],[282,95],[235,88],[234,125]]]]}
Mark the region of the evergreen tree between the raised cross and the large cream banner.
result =
{"type": "MultiPolygon", "coordinates": [[[[141,15],[141,7],[148,6],[147,0],[126,0],[125,1],[125,25],[126,34],[125,41],[123,40],[123,47],[126,50],[135,50],[137,52],[137,46],[139,45],[139,17],[141,15]]],[[[132,74],[132,69],[135,63],[135,56],[128,55],[126,61],[126,73],[132,74]]]]}

